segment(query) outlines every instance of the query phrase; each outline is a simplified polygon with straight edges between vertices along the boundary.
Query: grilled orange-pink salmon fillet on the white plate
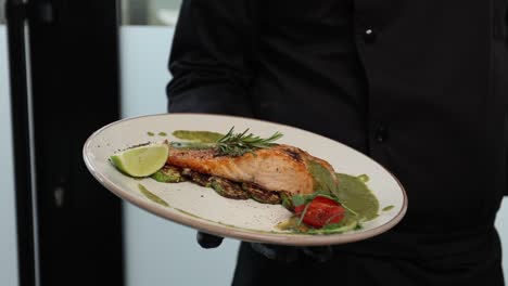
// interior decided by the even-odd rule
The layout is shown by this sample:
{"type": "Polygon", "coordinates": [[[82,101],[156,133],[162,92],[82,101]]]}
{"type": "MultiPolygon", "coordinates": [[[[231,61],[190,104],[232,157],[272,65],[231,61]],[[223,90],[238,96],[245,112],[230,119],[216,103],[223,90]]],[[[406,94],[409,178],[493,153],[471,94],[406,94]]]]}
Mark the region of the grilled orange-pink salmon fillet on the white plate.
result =
{"type": "Polygon", "coordinates": [[[252,183],[266,191],[292,194],[314,193],[315,181],[308,170],[309,161],[320,164],[335,178],[330,164],[294,146],[280,144],[256,150],[254,154],[218,156],[214,148],[172,146],[167,164],[234,182],[252,183]]]}

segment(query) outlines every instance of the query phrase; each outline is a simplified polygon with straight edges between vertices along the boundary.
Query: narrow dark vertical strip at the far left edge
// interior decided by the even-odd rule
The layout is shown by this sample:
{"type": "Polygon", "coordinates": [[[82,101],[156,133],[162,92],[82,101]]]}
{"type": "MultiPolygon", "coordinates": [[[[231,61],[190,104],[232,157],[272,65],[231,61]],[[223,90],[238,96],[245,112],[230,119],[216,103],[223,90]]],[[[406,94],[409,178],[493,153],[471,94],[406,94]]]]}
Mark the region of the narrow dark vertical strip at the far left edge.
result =
{"type": "Polygon", "coordinates": [[[34,251],[34,210],[31,207],[30,139],[28,121],[28,89],[26,78],[25,20],[23,1],[5,3],[8,16],[9,70],[11,83],[11,117],[14,156],[14,185],[17,235],[17,269],[20,286],[36,283],[34,251]]]}

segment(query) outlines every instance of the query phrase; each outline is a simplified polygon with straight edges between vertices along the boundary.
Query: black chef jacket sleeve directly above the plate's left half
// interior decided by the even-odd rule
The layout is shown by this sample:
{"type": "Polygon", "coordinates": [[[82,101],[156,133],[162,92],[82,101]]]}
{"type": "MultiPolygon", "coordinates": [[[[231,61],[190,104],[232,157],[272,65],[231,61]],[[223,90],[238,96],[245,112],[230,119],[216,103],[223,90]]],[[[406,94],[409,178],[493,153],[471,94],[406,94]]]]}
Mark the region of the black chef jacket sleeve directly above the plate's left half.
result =
{"type": "Polygon", "coordinates": [[[247,0],[183,0],[169,56],[169,113],[252,116],[253,11],[247,0]]]}

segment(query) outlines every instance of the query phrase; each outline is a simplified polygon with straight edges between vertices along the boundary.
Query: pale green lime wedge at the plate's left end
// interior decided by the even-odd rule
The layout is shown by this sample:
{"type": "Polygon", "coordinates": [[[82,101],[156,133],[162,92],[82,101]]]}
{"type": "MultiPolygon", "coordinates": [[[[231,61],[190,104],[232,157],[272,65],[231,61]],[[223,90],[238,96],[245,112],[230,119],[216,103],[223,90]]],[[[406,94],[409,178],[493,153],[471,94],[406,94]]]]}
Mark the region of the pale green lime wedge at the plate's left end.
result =
{"type": "Polygon", "coordinates": [[[118,170],[131,177],[147,177],[166,164],[169,147],[166,143],[128,148],[110,157],[118,170]]]}

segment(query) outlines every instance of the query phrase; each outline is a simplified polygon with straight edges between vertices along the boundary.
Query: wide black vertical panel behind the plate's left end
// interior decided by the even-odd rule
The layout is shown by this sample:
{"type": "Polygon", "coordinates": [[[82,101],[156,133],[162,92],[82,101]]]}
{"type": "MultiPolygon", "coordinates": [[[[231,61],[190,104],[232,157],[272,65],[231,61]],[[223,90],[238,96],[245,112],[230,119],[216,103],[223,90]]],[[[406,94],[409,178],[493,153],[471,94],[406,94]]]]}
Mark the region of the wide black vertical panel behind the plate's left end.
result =
{"type": "Polygon", "coordinates": [[[120,202],[81,156],[119,117],[116,1],[34,0],[29,28],[41,284],[123,285],[120,202]]]}

